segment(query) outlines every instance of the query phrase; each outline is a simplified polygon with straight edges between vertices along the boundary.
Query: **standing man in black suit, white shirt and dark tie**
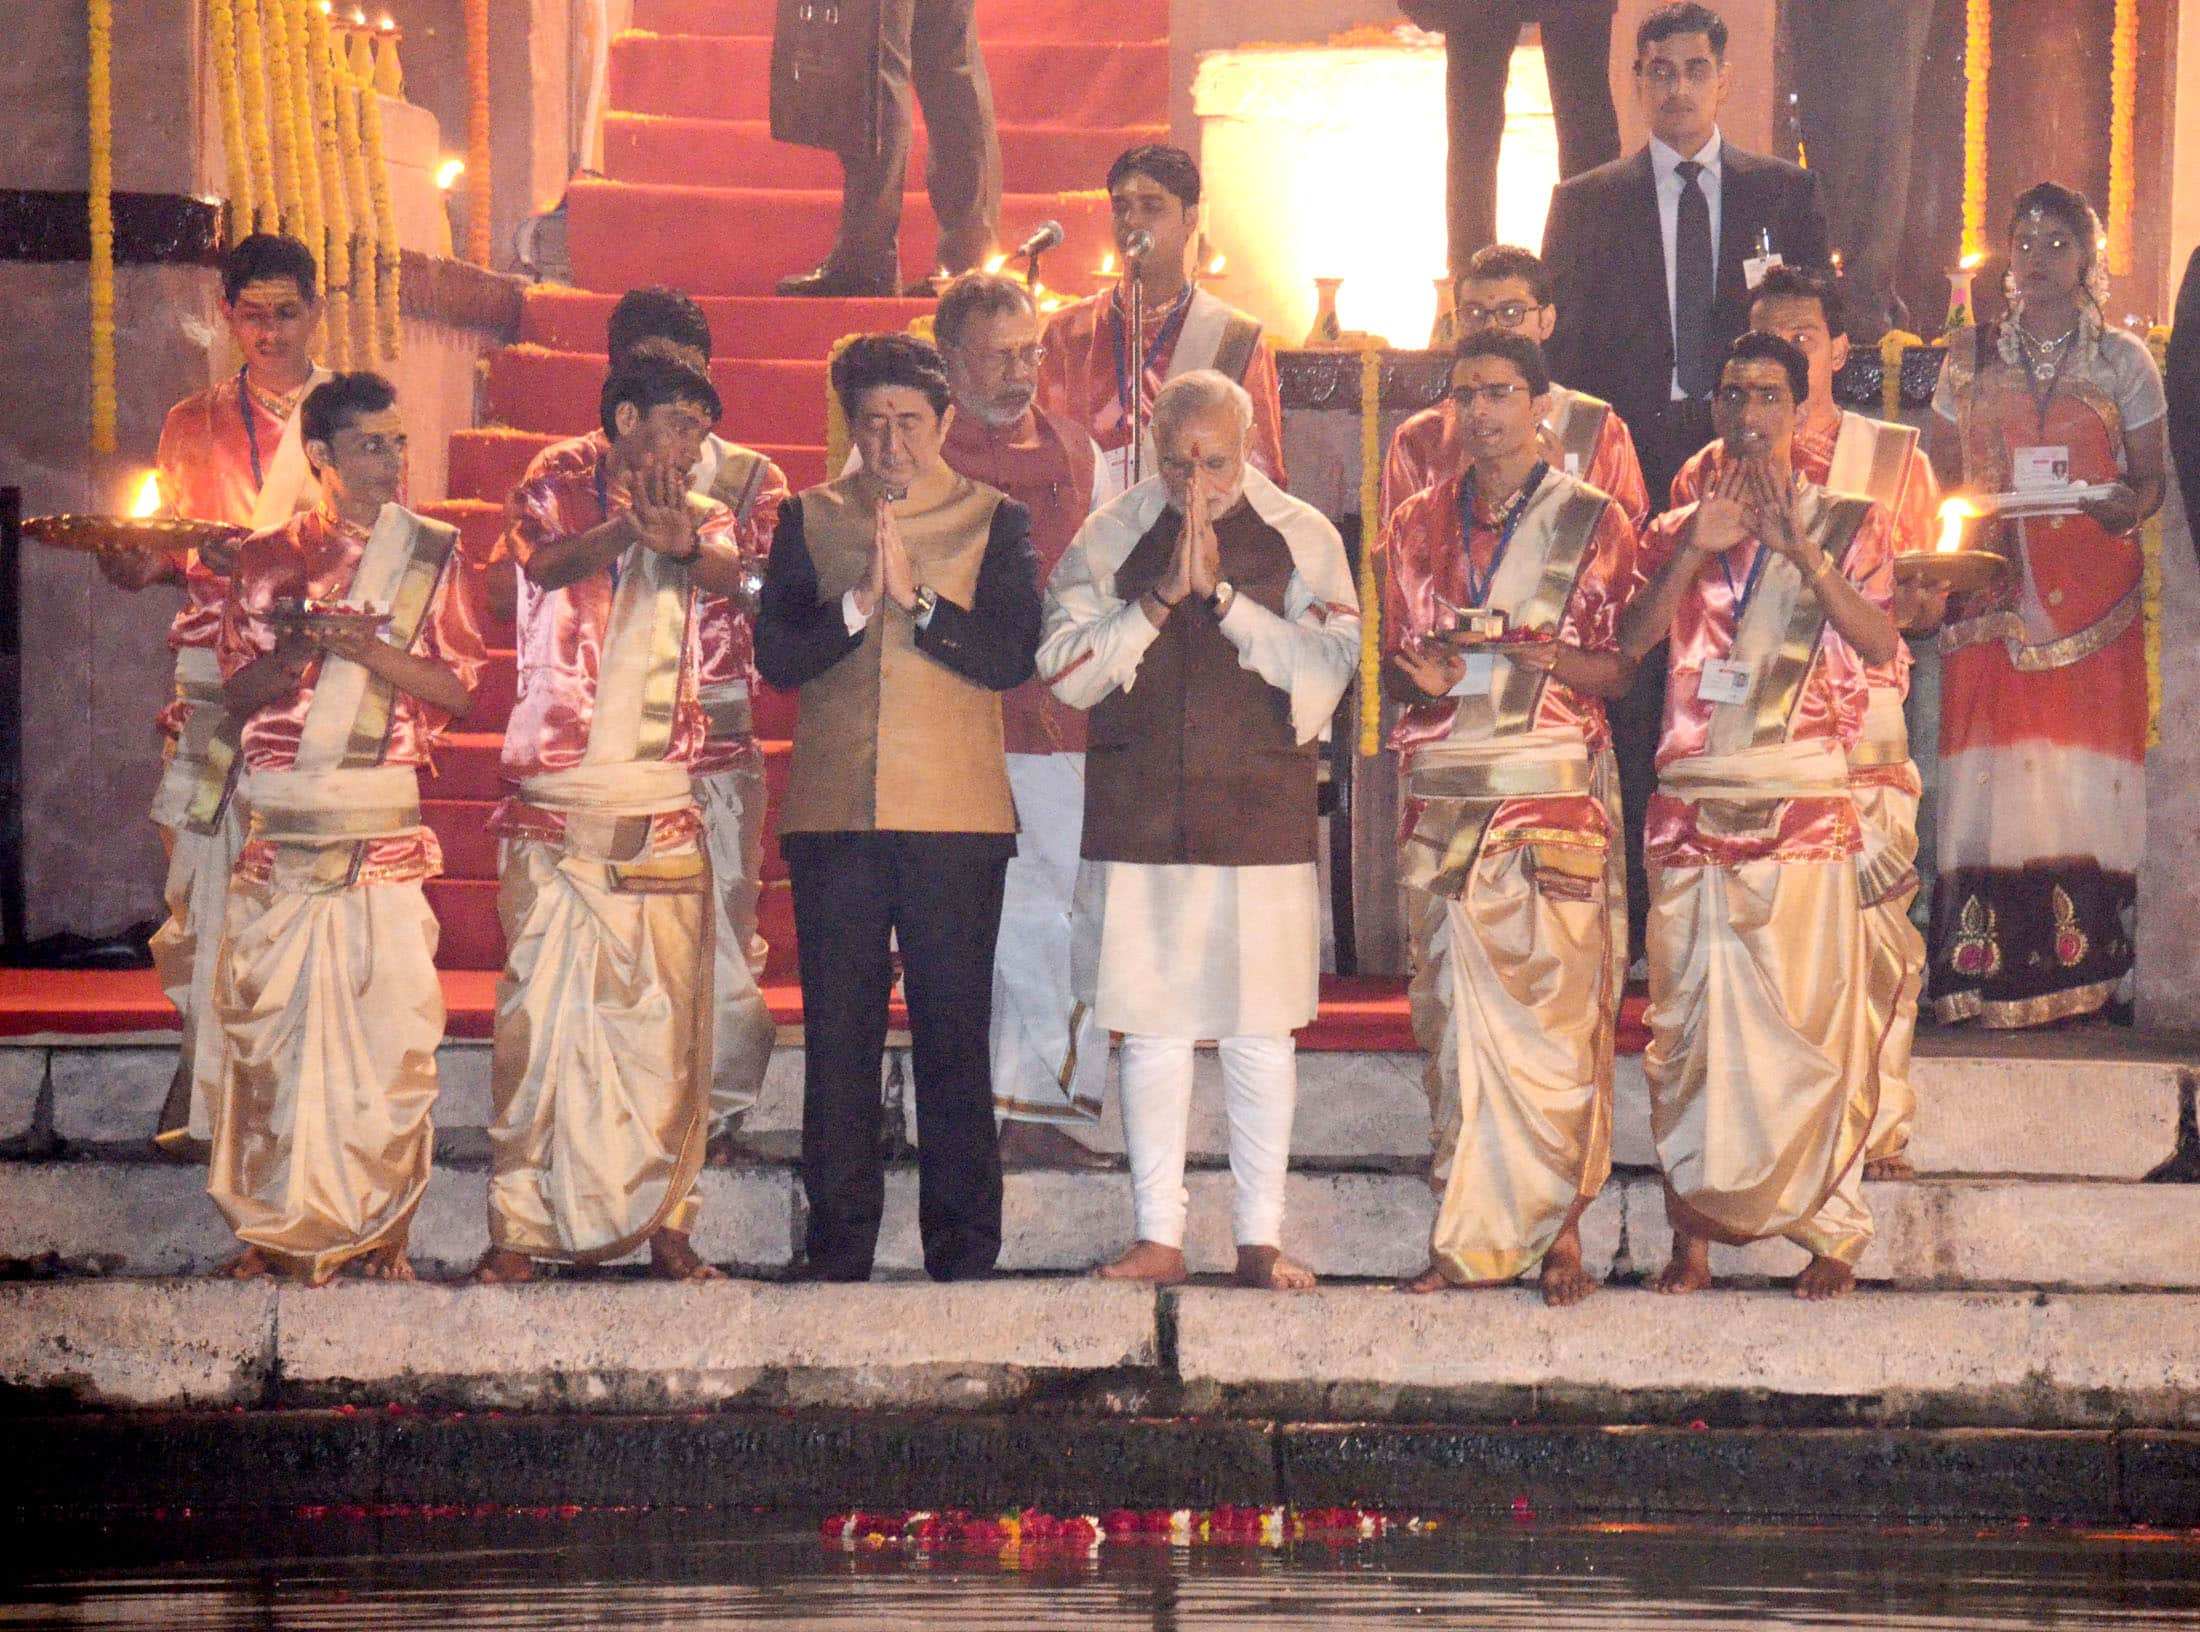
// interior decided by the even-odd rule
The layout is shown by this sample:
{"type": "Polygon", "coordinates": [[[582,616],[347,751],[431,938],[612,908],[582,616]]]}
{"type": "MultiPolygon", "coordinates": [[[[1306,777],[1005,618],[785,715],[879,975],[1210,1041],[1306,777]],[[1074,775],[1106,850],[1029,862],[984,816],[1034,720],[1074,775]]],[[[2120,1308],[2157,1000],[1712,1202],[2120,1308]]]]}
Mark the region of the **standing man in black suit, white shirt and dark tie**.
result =
{"type": "MultiPolygon", "coordinates": [[[[1764,260],[1826,266],[1817,178],[1718,134],[1731,88],[1727,24],[1716,11],[1652,11],[1635,31],[1635,97],[1650,145],[1560,183],[1542,229],[1558,304],[1551,372],[1619,409],[1657,508],[1687,455],[1712,440],[1718,363],[1749,328],[1749,288],[1764,260]]],[[[1641,823],[1657,785],[1663,706],[1661,647],[1643,660],[1635,691],[1610,706],[1637,955],[1650,904],[1641,823]]]]}

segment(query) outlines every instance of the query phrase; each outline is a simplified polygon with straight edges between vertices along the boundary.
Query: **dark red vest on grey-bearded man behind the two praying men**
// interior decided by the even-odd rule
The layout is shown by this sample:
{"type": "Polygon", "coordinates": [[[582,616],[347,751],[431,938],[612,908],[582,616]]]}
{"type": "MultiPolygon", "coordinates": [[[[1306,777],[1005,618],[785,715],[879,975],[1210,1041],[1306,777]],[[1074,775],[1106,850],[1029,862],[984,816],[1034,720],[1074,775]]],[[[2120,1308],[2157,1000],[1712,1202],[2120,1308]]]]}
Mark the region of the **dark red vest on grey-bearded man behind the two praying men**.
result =
{"type": "MultiPolygon", "coordinates": [[[[994,429],[957,413],[939,451],[953,471],[1001,488],[1032,512],[1032,554],[1038,585],[1078,537],[1093,501],[1093,440],[1069,420],[1032,409],[1016,424],[994,429]]],[[[1001,728],[1012,754],[1076,754],[1085,750],[1085,713],[1060,702],[1043,680],[1025,680],[1001,697],[1001,728]]]]}

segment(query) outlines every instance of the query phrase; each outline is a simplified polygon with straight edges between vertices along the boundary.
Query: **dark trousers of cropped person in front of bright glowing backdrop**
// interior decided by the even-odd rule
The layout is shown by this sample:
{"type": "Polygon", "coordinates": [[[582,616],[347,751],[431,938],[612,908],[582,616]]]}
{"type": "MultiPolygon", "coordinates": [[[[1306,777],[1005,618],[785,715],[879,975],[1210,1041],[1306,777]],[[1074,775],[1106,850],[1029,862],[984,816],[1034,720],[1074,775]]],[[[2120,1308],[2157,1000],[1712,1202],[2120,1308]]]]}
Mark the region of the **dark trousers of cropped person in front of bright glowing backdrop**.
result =
{"type": "Polygon", "coordinates": [[[1619,158],[1613,108],[1613,7],[1604,0],[1489,0],[1459,7],[1443,26],[1443,165],[1452,275],[1498,238],[1498,145],[1505,141],[1505,73],[1520,29],[1542,24],[1544,77],[1558,121],[1558,174],[1580,176],[1619,158]]]}

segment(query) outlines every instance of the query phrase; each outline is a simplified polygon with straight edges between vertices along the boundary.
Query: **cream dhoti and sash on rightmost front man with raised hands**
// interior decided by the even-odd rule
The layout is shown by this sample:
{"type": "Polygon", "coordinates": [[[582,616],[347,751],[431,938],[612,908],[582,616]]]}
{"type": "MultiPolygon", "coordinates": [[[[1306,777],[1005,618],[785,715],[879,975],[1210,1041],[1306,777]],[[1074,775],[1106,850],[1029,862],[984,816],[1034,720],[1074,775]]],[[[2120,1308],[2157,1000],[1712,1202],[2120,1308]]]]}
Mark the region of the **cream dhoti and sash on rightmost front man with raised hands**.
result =
{"type": "MultiPolygon", "coordinates": [[[[1718,831],[1846,787],[1839,743],[1813,739],[1681,759],[1659,790],[1718,831]]],[[[1643,1069],[1674,1227],[1786,1236],[1855,1265],[1872,1238],[1861,1179],[1879,1109],[1855,858],[1657,867],[1646,930],[1643,1069]]]]}

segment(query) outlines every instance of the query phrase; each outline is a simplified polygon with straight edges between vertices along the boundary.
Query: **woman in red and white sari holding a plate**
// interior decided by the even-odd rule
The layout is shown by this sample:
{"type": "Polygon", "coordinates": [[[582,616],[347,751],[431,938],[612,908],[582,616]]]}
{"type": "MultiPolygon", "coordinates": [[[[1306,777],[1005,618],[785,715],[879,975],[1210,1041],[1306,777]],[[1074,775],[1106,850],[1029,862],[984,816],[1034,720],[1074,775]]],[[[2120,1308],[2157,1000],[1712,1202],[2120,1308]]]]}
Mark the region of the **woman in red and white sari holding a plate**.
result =
{"type": "Polygon", "coordinates": [[[2147,348],[2101,317],[2101,222],[2039,183],[2009,227],[2011,304],[1949,341],[1934,464],[1971,495],[2088,484],[1993,523],[2015,563],[1940,636],[1943,1023],[2046,1025],[2127,1001],[2147,831],[2138,526],[2160,508],[2167,405],[2147,348]]]}

